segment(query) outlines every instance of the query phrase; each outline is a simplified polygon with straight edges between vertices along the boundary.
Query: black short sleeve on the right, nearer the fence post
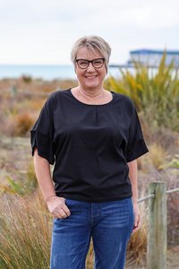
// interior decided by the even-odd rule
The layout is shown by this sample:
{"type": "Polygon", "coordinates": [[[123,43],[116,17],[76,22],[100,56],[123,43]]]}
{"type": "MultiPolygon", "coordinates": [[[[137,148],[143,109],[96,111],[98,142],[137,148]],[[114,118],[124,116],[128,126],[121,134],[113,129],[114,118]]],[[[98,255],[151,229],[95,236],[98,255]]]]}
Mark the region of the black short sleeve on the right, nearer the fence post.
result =
{"type": "Polygon", "coordinates": [[[133,161],[149,152],[141,131],[141,123],[132,103],[131,124],[129,127],[129,140],[127,143],[126,161],[133,161]]]}

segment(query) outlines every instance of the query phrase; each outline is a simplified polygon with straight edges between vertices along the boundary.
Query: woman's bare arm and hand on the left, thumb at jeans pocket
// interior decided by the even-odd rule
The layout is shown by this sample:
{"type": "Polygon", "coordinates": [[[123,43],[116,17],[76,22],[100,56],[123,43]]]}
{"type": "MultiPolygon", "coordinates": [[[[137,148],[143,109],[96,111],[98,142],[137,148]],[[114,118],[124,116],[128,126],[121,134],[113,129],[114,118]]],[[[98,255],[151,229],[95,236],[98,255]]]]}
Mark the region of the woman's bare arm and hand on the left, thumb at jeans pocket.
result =
{"type": "Polygon", "coordinates": [[[38,184],[50,213],[55,218],[66,218],[70,215],[68,207],[64,203],[64,197],[55,195],[55,188],[51,178],[50,165],[45,158],[38,155],[37,148],[34,151],[34,167],[38,184]]]}

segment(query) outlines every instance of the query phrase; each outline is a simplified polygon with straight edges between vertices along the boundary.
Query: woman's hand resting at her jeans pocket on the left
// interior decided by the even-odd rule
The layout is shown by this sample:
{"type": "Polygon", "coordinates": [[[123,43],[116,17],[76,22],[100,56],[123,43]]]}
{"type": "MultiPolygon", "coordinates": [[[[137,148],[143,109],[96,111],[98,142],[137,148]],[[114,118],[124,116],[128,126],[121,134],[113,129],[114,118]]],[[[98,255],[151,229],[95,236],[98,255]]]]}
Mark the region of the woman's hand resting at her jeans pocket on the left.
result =
{"type": "Polygon", "coordinates": [[[64,219],[71,214],[64,201],[64,197],[55,195],[47,199],[48,210],[57,219],[64,219]]]}

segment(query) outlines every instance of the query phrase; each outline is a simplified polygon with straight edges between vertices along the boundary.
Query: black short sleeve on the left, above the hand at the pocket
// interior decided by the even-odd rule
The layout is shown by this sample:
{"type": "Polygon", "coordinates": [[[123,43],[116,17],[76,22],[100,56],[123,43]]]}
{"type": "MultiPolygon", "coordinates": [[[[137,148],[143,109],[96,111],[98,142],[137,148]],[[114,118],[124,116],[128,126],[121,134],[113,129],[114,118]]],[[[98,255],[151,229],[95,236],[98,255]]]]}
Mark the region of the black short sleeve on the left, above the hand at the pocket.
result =
{"type": "Polygon", "coordinates": [[[31,154],[34,155],[35,148],[38,155],[47,159],[50,164],[55,162],[54,154],[54,120],[53,103],[48,99],[41,109],[38,120],[30,130],[31,154]]]}

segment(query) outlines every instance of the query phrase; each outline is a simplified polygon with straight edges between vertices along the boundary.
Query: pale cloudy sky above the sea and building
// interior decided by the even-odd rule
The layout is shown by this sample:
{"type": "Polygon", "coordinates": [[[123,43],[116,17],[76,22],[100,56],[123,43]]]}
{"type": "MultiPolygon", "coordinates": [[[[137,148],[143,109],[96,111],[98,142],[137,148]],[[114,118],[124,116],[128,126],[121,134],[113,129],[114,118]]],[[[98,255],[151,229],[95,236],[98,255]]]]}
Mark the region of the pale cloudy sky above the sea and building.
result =
{"type": "Polygon", "coordinates": [[[179,50],[178,0],[0,0],[0,65],[69,65],[73,43],[98,35],[110,64],[130,50],[179,50]]]}

